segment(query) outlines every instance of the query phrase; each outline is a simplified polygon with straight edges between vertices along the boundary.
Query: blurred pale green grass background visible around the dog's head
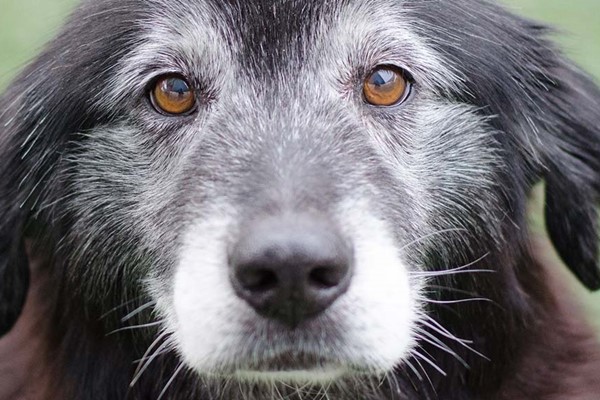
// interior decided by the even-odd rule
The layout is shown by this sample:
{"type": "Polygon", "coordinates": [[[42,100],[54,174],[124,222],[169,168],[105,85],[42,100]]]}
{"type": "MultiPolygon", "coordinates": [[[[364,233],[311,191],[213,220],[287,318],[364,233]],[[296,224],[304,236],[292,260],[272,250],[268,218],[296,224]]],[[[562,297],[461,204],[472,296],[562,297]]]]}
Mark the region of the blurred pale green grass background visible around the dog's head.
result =
{"type": "MultiPolygon", "coordinates": [[[[600,80],[599,0],[504,0],[514,11],[546,21],[559,29],[557,41],[571,58],[600,80]]],[[[1,0],[0,91],[19,69],[50,40],[76,0],[1,0]]],[[[600,128],[600,127],[599,127],[600,128]]],[[[543,196],[532,201],[533,229],[543,232],[543,196]]],[[[600,332],[600,294],[573,282],[600,332]]]]}

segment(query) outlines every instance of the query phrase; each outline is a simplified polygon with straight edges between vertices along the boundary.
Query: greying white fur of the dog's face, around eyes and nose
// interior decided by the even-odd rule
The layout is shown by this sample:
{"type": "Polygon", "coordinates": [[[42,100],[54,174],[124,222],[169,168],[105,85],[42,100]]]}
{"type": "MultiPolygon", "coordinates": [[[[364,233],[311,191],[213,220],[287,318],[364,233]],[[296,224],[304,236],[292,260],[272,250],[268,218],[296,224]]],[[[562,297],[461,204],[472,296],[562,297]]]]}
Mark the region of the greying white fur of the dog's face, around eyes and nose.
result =
{"type": "MultiPolygon", "coordinates": [[[[113,92],[108,95],[113,99],[128,96],[131,88],[122,81],[132,76],[139,77],[142,87],[155,76],[174,71],[184,77],[200,76],[205,82],[195,85],[198,95],[205,93],[205,104],[199,104],[189,117],[165,117],[142,103],[138,109],[144,128],[135,132],[130,125],[124,128],[126,136],[140,138],[149,132],[164,136],[165,130],[173,129],[166,138],[168,147],[161,153],[179,156],[172,162],[164,156],[139,159],[141,164],[156,163],[163,168],[161,178],[150,172],[148,183],[142,184],[148,191],[162,193],[150,201],[149,192],[140,193],[134,208],[153,210],[144,214],[162,214],[159,218],[185,215],[169,229],[177,231],[171,265],[151,275],[148,284],[174,345],[189,365],[202,372],[261,377],[266,370],[264,375],[270,378],[280,376],[269,374],[271,370],[307,369],[316,379],[349,369],[391,370],[413,348],[413,331],[424,306],[420,300],[423,282],[415,275],[425,268],[423,252],[414,242],[441,229],[463,228],[451,221],[439,221],[438,226],[432,223],[448,200],[444,197],[454,196],[453,203],[465,202],[465,194],[457,186],[461,180],[482,188],[474,192],[489,211],[475,204],[473,207],[480,210],[475,213],[487,219],[497,212],[495,191],[485,189],[501,168],[496,154],[499,146],[491,129],[468,107],[457,107],[435,96],[436,86],[445,90],[452,84],[452,72],[426,47],[418,45],[419,39],[402,26],[400,15],[375,12],[364,27],[353,32],[352,22],[368,11],[364,5],[330,11],[313,7],[320,18],[311,21],[312,25],[307,25],[301,10],[295,9],[290,21],[280,22],[298,27],[290,38],[262,38],[267,28],[263,24],[274,19],[246,20],[249,17],[243,10],[235,16],[235,23],[226,24],[223,11],[214,10],[214,5],[196,12],[186,8],[169,16],[168,20],[181,20],[175,27],[148,24],[152,28],[145,44],[135,49],[131,59],[124,60],[126,70],[115,74],[117,91],[111,88],[113,92]],[[376,21],[382,18],[391,19],[386,29],[377,27],[376,21]],[[251,28],[241,37],[219,31],[220,26],[230,25],[251,28]],[[302,47],[293,40],[300,34],[307,38],[302,47]],[[232,39],[225,42],[225,38],[232,39]],[[410,45],[403,46],[396,41],[399,38],[410,45]],[[267,41],[266,50],[254,48],[253,44],[261,40],[267,41]],[[364,40],[368,43],[362,44],[364,40]],[[198,54],[197,43],[205,41],[198,54]],[[152,61],[157,48],[169,49],[171,54],[152,61]],[[369,54],[373,48],[380,50],[369,54]],[[176,60],[177,54],[185,54],[185,65],[169,61],[176,60]],[[246,56],[240,59],[236,54],[246,56]],[[398,54],[403,54],[403,60],[398,54]],[[363,99],[362,82],[378,66],[386,65],[409,71],[414,79],[412,93],[402,104],[369,106],[363,99]],[[147,70],[156,71],[144,74],[147,70]],[[450,120],[452,124],[445,123],[450,120]],[[173,124],[177,125],[167,128],[173,124]],[[445,143],[447,155],[431,150],[441,146],[438,138],[445,143]],[[455,177],[456,171],[449,168],[453,163],[474,167],[455,177]],[[166,184],[171,189],[164,190],[166,184]],[[185,200],[174,209],[170,204],[178,198],[185,200]],[[162,213],[155,208],[161,204],[166,209],[162,213]],[[340,240],[343,244],[337,246],[342,249],[333,253],[345,253],[343,263],[348,264],[346,273],[351,275],[344,293],[334,295],[335,301],[318,316],[289,315],[310,314],[305,308],[315,307],[306,304],[312,300],[296,299],[286,304],[284,299],[278,300],[284,304],[267,301],[267,305],[257,305],[264,301],[248,301],[246,297],[263,293],[239,295],[235,259],[248,257],[239,252],[290,252],[292,258],[302,258],[303,252],[331,251],[321,246],[336,247],[333,243],[312,245],[312,240],[340,240]],[[264,310],[286,307],[281,318],[269,318],[278,311],[264,310]],[[277,323],[281,320],[284,326],[277,323]],[[291,364],[280,365],[286,364],[282,356],[289,354],[294,355],[291,364]],[[323,369],[327,373],[323,374],[323,369]]],[[[259,11],[261,15],[266,12],[259,11]]],[[[102,141],[111,136],[104,128],[91,134],[102,141]]],[[[115,146],[122,147],[116,143],[102,147],[115,146]]],[[[143,145],[132,150],[137,154],[140,148],[143,145]]],[[[120,166],[115,177],[123,176],[124,169],[132,170],[125,160],[138,159],[135,154],[124,154],[123,160],[113,157],[110,164],[120,166]]],[[[109,157],[98,154],[91,158],[109,157]]],[[[89,181],[89,176],[76,180],[89,181]]],[[[139,182],[132,180],[132,187],[137,185],[139,182]]],[[[118,199],[109,202],[116,204],[118,199]]],[[[126,214],[131,215],[130,211],[126,214]]],[[[499,225],[500,217],[498,213],[491,225],[499,225]]],[[[148,221],[144,232],[154,230],[151,226],[166,228],[167,221],[148,221]]],[[[85,224],[96,225],[92,221],[85,224]]],[[[260,254],[250,257],[269,258],[260,254]]],[[[307,262],[327,266],[329,259],[335,258],[330,254],[322,257],[307,262]]],[[[241,261],[259,263],[257,268],[262,269],[268,268],[265,264],[269,262],[241,261]]],[[[291,260],[281,262],[301,268],[291,260]]],[[[265,276],[254,279],[267,280],[265,276]]],[[[275,279],[280,281],[275,284],[285,284],[282,276],[275,279]]]]}

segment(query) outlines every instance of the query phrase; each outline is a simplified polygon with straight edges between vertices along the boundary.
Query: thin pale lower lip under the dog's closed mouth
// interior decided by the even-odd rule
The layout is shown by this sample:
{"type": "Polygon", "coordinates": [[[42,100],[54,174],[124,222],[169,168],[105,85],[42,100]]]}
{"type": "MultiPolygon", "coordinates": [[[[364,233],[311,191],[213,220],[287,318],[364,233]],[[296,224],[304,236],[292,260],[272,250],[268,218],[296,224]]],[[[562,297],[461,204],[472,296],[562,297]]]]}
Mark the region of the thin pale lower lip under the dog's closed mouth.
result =
{"type": "Polygon", "coordinates": [[[342,378],[348,370],[340,367],[319,367],[315,369],[253,371],[237,370],[234,377],[246,382],[286,382],[286,383],[328,383],[342,378]]]}

